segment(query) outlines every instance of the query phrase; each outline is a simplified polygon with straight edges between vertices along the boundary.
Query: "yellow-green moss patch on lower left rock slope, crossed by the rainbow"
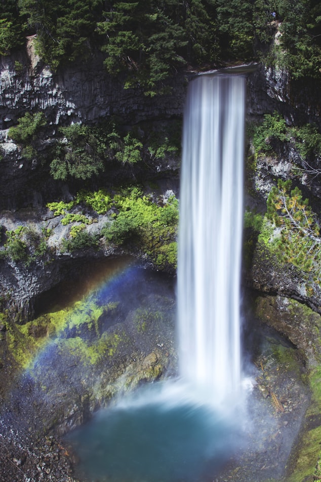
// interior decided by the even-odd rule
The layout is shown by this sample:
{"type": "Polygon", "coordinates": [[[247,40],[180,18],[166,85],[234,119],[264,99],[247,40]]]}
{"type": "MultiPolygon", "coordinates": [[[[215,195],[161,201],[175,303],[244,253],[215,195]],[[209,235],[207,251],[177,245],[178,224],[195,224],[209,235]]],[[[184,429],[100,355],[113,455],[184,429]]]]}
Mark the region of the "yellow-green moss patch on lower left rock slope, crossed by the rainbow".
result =
{"type": "Polygon", "coordinates": [[[35,354],[48,343],[53,343],[61,353],[67,350],[84,364],[96,364],[104,357],[113,356],[119,343],[126,339],[119,332],[101,335],[99,331],[100,318],[109,316],[116,307],[116,303],[100,306],[89,297],[23,325],[11,323],[8,325],[9,350],[22,368],[32,369],[35,354]]]}

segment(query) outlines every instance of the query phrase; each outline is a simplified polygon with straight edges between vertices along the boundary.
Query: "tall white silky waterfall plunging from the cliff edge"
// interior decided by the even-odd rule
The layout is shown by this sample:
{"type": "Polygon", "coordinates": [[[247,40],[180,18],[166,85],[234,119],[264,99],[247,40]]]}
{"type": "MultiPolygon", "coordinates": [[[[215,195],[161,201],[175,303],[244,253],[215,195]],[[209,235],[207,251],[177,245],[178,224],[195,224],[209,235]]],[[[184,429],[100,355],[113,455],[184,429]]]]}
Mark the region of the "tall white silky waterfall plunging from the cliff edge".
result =
{"type": "Polygon", "coordinates": [[[184,113],[178,250],[180,374],[215,405],[240,382],[245,78],[199,76],[184,113]]]}

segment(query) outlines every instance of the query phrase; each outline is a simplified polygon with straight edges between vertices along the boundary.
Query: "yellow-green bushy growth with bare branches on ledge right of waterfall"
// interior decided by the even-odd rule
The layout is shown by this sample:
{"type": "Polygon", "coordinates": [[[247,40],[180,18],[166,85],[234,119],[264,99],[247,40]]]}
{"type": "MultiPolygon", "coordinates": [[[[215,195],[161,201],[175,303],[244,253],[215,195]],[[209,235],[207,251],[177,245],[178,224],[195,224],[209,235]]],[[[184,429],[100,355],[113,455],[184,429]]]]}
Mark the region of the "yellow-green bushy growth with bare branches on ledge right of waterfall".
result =
{"type": "Polygon", "coordinates": [[[249,266],[258,243],[258,252],[261,249],[263,254],[268,249],[279,263],[290,263],[299,268],[307,281],[308,292],[313,283],[321,284],[319,220],[301,191],[297,187],[291,189],[291,180],[279,179],[277,186],[271,189],[264,217],[246,211],[244,226],[253,230],[252,235],[246,237],[244,246],[245,262],[249,266]]]}

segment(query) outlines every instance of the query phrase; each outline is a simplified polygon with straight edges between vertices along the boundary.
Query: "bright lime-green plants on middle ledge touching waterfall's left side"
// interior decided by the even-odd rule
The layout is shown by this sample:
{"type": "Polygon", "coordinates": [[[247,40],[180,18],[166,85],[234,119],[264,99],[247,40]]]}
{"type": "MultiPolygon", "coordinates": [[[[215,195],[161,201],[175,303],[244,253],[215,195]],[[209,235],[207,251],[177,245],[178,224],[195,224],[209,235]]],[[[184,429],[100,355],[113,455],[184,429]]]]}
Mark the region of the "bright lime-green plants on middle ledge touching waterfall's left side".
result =
{"type": "Polygon", "coordinates": [[[54,216],[63,216],[63,225],[71,224],[69,239],[62,241],[62,251],[97,248],[104,236],[108,244],[135,249],[147,255],[160,269],[177,266],[178,201],[174,196],[159,203],[152,202],[139,188],[119,191],[113,196],[105,190],[82,191],[69,203],[49,203],[54,216]],[[101,234],[90,234],[85,228],[96,221],[84,213],[68,212],[82,203],[99,214],[109,213],[110,220],[101,234]]]}

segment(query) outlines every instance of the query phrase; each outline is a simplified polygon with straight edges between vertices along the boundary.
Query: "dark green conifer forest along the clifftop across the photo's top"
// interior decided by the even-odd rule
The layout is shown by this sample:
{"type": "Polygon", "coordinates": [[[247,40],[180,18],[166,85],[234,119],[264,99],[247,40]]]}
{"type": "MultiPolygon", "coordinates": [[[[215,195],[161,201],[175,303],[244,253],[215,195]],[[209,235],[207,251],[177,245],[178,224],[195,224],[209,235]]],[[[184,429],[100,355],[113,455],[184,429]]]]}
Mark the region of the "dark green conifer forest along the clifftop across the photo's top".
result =
{"type": "Polygon", "coordinates": [[[2,55],[34,34],[53,69],[98,48],[111,75],[151,95],[182,66],[263,59],[321,78],[317,0],[3,0],[0,22],[2,55]]]}

